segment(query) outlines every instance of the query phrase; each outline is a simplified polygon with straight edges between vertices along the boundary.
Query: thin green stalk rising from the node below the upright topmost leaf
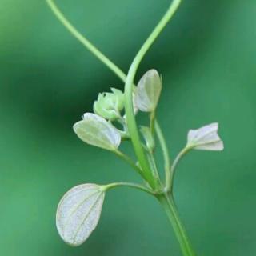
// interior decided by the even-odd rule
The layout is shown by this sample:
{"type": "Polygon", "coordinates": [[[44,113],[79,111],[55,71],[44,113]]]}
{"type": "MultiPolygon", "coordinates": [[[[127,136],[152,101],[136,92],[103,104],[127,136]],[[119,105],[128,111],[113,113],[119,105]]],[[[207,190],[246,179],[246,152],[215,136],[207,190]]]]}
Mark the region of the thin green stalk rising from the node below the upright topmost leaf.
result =
{"type": "Polygon", "coordinates": [[[165,174],[166,174],[166,190],[170,190],[170,154],[168,147],[166,145],[166,140],[164,138],[164,135],[162,134],[161,127],[158,124],[158,121],[155,120],[155,131],[158,136],[158,140],[160,142],[160,146],[162,148],[162,154],[165,162],[165,174]]]}

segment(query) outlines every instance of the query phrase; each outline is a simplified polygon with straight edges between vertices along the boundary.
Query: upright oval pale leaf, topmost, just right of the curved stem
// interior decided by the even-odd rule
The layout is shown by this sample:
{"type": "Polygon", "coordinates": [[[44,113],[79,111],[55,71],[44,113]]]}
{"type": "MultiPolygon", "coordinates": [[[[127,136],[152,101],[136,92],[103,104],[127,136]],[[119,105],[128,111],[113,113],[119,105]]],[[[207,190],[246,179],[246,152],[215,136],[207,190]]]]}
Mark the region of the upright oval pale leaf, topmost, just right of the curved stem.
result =
{"type": "Polygon", "coordinates": [[[149,70],[138,82],[135,104],[143,112],[153,112],[158,106],[162,81],[157,70],[149,70]]]}

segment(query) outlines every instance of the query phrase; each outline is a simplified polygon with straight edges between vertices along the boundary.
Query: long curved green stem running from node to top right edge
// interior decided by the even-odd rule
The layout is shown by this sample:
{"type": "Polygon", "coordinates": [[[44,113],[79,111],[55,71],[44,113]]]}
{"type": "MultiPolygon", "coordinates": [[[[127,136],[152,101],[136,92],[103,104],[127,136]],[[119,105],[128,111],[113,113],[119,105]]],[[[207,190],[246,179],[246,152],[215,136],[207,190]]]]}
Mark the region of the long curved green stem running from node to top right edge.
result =
{"type": "Polygon", "coordinates": [[[147,38],[146,42],[143,44],[142,48],[138,51],[138,54],[134,58],[130,66],[130,70],[128,72],[126,78],[126,86],[125,86],[125,95],[126,95],[126,118],[128,122],[128,129],[130,132],[131,140],[134,145],[134,151],[137,155],[137,158],[140,162],[140,165],[143,170],[144,177],[149,182],[152,188],[156,188],[157,184],[154,181],[150,170],[150,164],[148,159],[146,158],[146,154],[142,148],[142,143],[138,134],[138,126],[134,117],[134,107],[133,107],[133,83],[134,77],[138,70],[138,66],[142,61],[142,58],[145,56],[146,52],[150,49],[150,46],[153,44],[158,35],[162,32],[166,24],[170,21],[170,18],[173,17],[175,11],[178,9],[181,0],[174,0],[166,14],[163,16],[158,25],[154,28],[153,32],[150,34],[149,38],[147,38]]]}

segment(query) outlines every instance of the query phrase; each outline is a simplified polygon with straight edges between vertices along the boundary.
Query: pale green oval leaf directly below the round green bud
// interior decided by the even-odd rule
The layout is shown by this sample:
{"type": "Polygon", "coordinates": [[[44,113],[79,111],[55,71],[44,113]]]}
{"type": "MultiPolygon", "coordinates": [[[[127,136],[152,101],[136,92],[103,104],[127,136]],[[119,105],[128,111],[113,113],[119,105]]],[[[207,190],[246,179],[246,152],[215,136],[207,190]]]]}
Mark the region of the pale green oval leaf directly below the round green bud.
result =
{"type": "Polygon", "coordinates": [[[105,150],[117,150],[121,143],[119,131],[97,114],[84,114],[83,120],[74,124],[74,132],[83,142],[105,150]]]}

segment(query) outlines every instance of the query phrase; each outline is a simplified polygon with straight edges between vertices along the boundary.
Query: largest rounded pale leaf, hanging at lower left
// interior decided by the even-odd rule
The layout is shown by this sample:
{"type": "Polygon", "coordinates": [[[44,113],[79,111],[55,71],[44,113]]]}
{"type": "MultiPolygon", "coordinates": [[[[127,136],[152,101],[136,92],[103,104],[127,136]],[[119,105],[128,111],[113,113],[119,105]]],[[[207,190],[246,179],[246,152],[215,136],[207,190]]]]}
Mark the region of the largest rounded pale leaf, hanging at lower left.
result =
{"type": "Polygon", "coordinates": [[[102,186],[83,184],[69,190],[58,204],[56,225],[70,246],[80,246],[98,224],[105,192],[102,186]]]}

